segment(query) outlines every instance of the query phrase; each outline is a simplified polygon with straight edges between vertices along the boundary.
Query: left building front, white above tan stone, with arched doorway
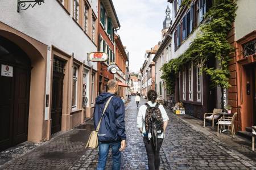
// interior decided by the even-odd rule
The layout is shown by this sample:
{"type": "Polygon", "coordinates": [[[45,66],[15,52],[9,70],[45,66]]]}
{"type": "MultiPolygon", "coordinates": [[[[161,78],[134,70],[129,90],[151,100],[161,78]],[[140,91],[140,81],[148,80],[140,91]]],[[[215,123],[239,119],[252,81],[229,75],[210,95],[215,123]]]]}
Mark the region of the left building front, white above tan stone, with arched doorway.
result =
{"type": "Polygon", "coordinates": [[[87,55],[97,51],[98,1],[54,0],[19,12],[17,1],[0,6],[4,150],[46,141],[92,116],[97,63],[87,55]]]}

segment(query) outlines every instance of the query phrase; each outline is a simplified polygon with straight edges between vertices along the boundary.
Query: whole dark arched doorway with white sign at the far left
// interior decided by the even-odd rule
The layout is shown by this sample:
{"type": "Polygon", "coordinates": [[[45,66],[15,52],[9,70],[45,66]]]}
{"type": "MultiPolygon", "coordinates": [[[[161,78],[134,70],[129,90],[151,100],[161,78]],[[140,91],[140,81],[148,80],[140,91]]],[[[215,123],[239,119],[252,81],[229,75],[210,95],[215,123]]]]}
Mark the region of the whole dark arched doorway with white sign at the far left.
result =
{"type": "Polygon", "coordinates": [[[0,36],[0,150],[27,141],[31,61],[0,36]]]}

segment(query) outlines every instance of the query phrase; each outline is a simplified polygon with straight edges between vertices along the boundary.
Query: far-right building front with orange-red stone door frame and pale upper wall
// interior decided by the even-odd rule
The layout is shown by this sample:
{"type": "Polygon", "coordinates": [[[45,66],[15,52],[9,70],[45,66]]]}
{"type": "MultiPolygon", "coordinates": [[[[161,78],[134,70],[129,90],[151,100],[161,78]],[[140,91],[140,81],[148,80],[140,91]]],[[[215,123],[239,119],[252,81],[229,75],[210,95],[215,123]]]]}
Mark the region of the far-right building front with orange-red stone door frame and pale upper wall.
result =
{"type": "Polygon", "coordinates": [[[236,20],[228,37],[236,49],[229,62],[228,103],[232,112],[238,112],[238,130],[245,131],[256,126],[256,2],[236,2],[236,20]]]}

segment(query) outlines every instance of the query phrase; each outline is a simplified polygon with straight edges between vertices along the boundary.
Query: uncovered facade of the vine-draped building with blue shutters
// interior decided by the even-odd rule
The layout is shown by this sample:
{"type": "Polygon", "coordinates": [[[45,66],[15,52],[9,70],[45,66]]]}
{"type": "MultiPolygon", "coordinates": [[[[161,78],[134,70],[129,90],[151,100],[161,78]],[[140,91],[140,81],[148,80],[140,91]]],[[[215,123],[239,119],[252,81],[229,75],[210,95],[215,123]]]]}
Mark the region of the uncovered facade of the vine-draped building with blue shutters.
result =
{"type": "MultiPolygon", "coordinates": [[[[189,6],[181,8],[181,0],[169,0],[172,3],[172,25],[168,32],[172,35],[171,57],[177,58],[188,49],[189,44],[199,33],[204,15],[212,6],[212,1],[191,1],[189,6]]],[[[215,58],[209,59],[208,67],[216,68],[215,58]]],[[[221,88],[210,87],[210,78],[201,74],[200,66],[187,63],[176,80],[176,101],[184,103],[185,113],[203,118],[205,112],[221,108],[221,88]]]]}

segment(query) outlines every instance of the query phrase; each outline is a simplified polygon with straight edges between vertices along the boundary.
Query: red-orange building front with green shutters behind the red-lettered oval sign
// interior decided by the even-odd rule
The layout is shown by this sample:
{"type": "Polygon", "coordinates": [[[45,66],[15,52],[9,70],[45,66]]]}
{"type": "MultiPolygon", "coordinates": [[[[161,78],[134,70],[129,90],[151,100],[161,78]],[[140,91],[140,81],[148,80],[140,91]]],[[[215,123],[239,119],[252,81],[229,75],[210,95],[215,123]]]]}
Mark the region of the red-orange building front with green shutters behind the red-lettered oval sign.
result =
{"type": "Polygon", "coordinates": [[[115,61],[114,31],[120,24],[112,0],[98,1],[98,51],[108,54],[106,62],[98,62],[98,94],[107,91],[106,83],[114,79],[114,74],[108,71],[110,63],[115,61]]]}

